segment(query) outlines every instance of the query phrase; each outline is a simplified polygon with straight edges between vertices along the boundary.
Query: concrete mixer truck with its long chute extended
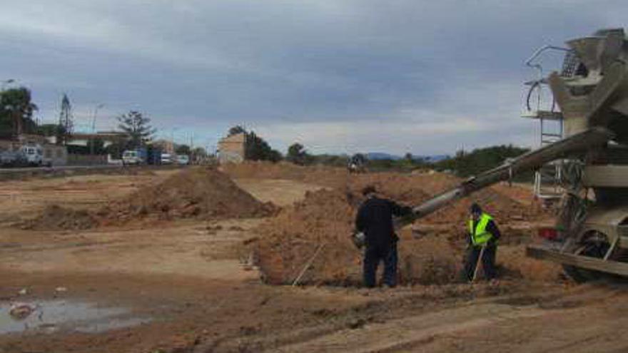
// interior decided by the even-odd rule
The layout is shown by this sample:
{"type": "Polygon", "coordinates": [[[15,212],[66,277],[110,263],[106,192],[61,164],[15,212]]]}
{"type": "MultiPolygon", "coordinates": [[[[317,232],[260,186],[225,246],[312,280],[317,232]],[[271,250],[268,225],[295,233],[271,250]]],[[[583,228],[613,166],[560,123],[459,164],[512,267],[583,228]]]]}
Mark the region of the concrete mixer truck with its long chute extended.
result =
{"type": "Polygon", "coordinates": [[[535,194],[557,198],[558,215],[527,255],[559,262],[577,281],[628,276],[628,39],[623,29],[599,30],[540,48],[527,65],[539,72],[527,83],[526,116],[540,121],[542,146],[436,195],[415,214],[536,170],[535,194]],[[550,52],[562,56],[562,68],[545,76],[539,60],[550,52]],[[548,132],[550,124],[557,130],[548,132]],[[554,172],[553,195],[543,191],[544,170],[554,172]]]}

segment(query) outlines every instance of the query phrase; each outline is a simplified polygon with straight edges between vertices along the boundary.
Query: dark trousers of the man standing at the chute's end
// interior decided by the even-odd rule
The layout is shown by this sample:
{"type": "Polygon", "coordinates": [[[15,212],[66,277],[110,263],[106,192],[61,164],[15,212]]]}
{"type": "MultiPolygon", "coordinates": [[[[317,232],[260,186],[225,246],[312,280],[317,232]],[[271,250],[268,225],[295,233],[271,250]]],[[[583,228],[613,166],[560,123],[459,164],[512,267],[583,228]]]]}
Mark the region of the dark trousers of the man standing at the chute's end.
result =
{"type": "Polygon", "coordinates": [[[389,246],[367,247],[364,252],[363,275],[365,287],[375,287],[375,275],[380,261],[384,262],[383,282],[389,287],[397,285],[397,243],[389,246]]]}

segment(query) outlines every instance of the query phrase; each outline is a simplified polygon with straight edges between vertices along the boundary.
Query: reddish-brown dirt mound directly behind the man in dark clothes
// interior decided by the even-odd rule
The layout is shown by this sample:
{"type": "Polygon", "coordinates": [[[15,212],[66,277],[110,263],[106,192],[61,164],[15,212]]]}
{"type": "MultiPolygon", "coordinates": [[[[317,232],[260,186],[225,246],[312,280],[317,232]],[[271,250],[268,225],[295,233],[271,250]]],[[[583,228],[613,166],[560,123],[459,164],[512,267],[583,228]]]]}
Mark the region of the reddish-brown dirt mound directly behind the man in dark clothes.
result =
{"type": "MultiPolygon", "coordinates": [[[[259,266],[266,282],[292,283],[314,256],[301,283],[355,285],[360,282],[361,253],[350,241],[355,205],[360,196],[350,191],[310,192],[293,208],[258,229],[259,266]]],[[[400,281],[405,284],[444,284],[455,279],[460,259],[450,240],[432,235],[412,239],[410,229],[400,233],[400,281]]]]}

